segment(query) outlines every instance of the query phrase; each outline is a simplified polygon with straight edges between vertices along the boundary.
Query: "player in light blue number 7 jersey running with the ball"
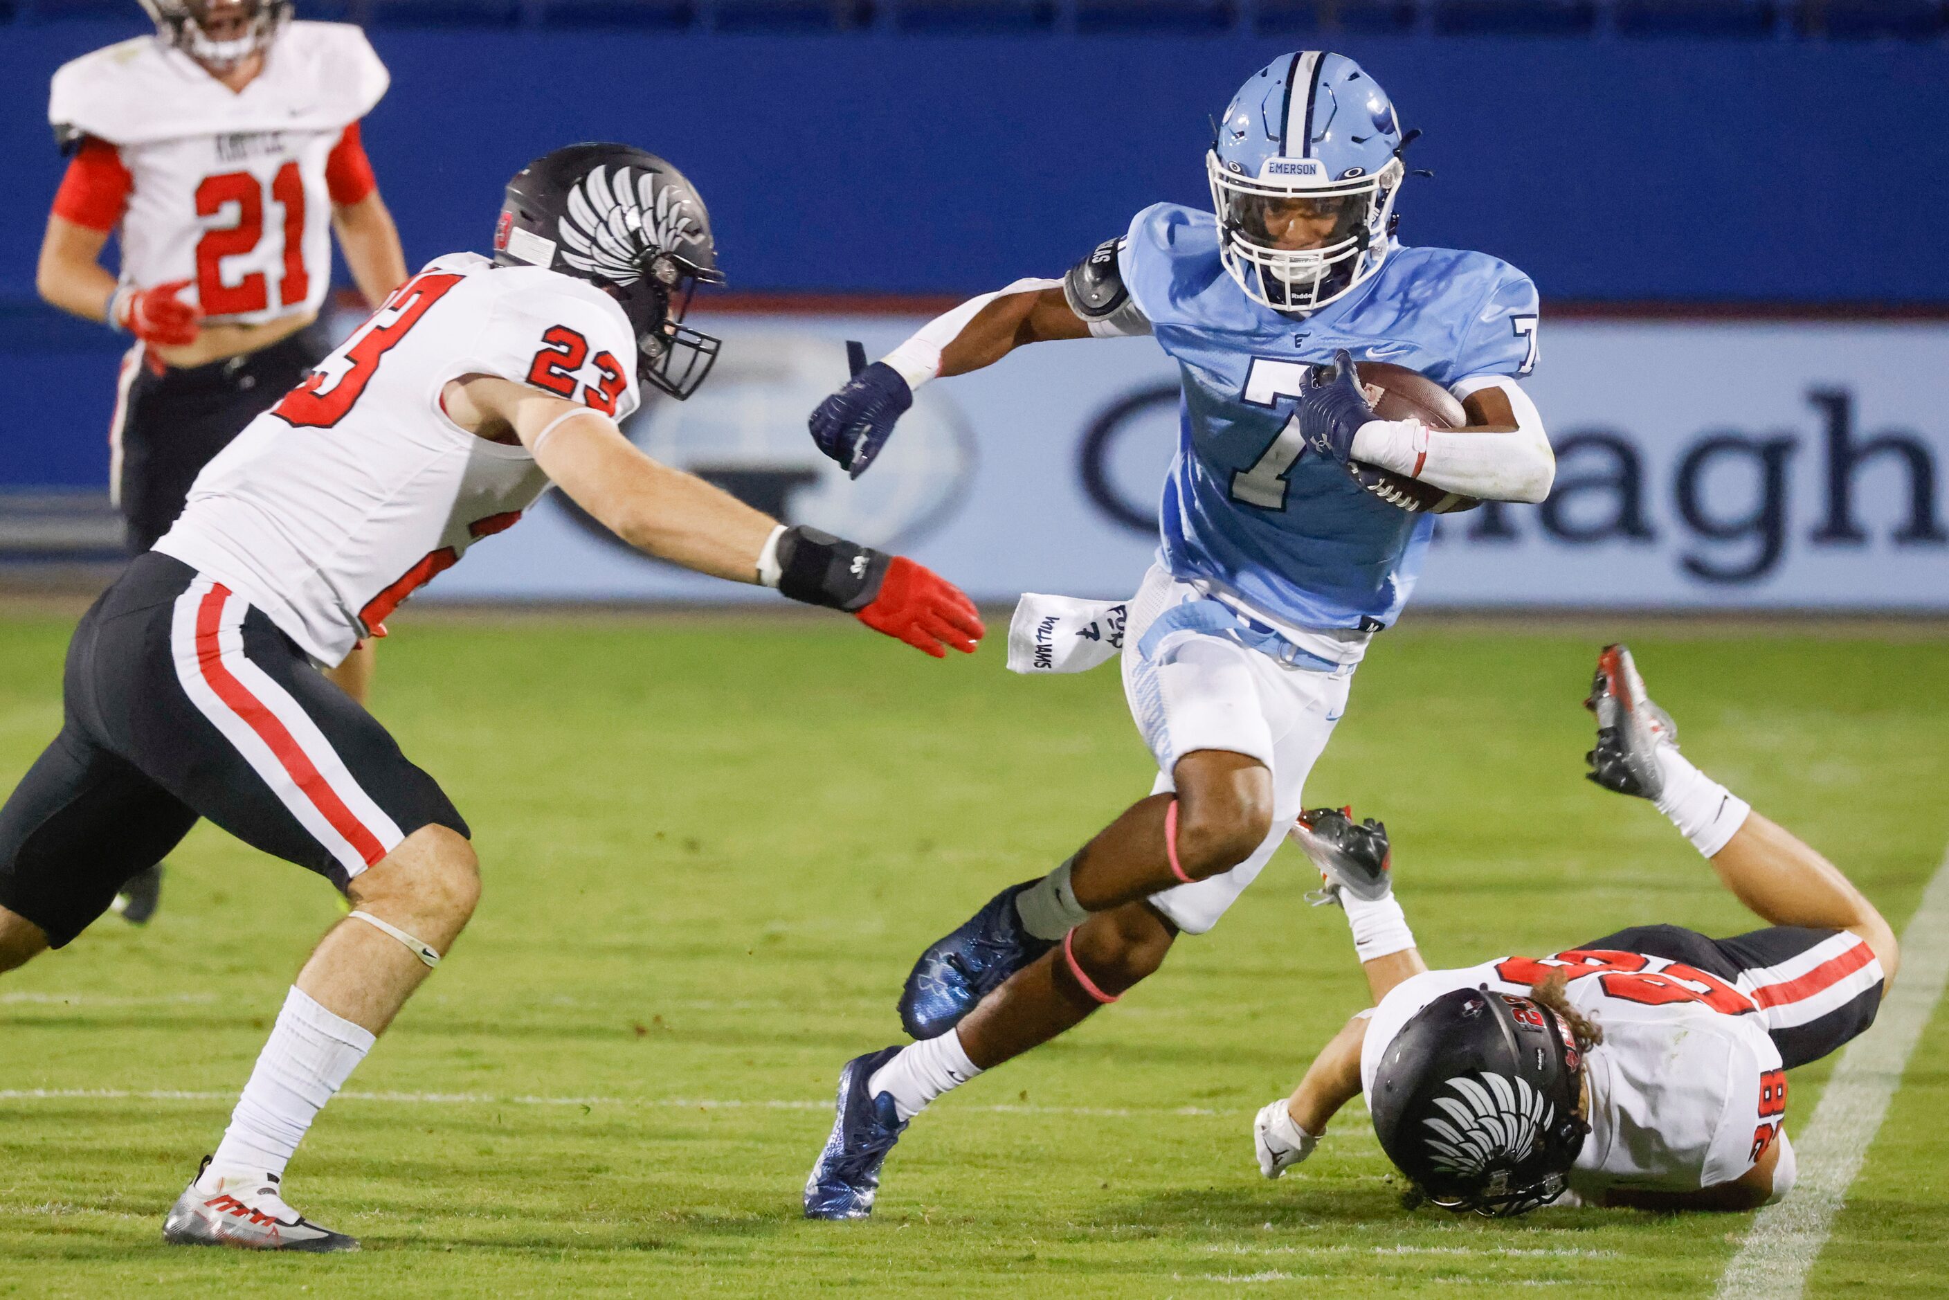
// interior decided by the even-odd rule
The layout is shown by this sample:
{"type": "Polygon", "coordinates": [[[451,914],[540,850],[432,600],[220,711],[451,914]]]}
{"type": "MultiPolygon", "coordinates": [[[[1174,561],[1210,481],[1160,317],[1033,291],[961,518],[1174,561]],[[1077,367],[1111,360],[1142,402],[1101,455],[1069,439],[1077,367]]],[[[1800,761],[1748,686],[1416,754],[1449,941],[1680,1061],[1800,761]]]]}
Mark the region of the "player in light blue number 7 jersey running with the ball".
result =
{"type": "MultiPolygon", "coordinates": [[[[1485,253],[1395,242],[1409,140],[1351,58],[1277,58],[1218,123],[1212,212],[1144,209],[1064,279],[930,322],[813,413],[821,450],[858,476],[916,384],[1023,343],[1148,333],[1183,376],[1158,563],[1123,637],[1154,793],[922,953],[900,996],[916,1043],[846,1064],[807,1216],[867,1216],[914,1113],[1115,1002],[1271,860],[1433,532],[1355,464],[1481,499],[1548,495],[1555,460],[1516,384],[1536,364],[1536,288],[1485,253]],[[1376,419],[1357,359],[1446,386],[1468,427],[1376,419]]],[[[1388,928],[1397,906],[1355,922],[1388,928]]]]}

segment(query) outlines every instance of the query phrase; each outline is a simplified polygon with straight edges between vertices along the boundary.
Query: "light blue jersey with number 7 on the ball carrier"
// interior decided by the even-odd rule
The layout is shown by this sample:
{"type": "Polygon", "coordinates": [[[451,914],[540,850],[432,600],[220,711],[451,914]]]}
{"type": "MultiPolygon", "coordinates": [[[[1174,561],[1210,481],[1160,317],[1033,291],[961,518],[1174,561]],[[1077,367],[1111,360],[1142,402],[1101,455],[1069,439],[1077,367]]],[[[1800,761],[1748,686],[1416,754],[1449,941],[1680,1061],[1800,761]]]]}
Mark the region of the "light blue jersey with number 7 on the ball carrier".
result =
{"type": "Polygon", "coordinates": [[[1210,212],[1160,203],[1130,222],[1123,283],[1183,374],[1164,485],[1164,565],[1300,628],[1384,628],[1415,587],[1433,516],[1300,454],[1292,394],[1345,347],[1450,386],[1536,364],[1536,287],[1487,253],[1395,248],[1372,279],[1304,318],[1245,296],[1210,212]]]}

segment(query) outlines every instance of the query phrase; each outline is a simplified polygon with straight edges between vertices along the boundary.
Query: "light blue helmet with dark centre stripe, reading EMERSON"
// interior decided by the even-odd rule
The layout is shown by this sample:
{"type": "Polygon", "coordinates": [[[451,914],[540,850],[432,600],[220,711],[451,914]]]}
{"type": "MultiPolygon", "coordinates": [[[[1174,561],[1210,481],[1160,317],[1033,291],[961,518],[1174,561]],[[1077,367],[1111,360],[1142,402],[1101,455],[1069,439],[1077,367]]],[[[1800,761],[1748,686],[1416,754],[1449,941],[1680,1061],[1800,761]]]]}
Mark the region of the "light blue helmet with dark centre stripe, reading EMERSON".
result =
{"type": "Polygon", "coordinates": [[[1204,156],[1218,249],[1240,288],[1304,314],[1380,271],[1399,148],[1394,101],[1353,58],[1300,51],[1259,68],[1204,156]]]}

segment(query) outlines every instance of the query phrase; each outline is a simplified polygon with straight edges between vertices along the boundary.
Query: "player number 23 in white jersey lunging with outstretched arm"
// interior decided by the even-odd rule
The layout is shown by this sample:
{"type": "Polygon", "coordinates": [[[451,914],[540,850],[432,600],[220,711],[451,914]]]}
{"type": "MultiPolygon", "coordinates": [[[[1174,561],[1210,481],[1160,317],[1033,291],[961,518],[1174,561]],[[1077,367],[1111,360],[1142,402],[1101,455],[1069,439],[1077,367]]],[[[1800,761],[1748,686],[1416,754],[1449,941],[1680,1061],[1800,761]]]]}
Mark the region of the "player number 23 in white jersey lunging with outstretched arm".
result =
{"type": "Polygon", "coordinates": [[[643,456],[616,419],[686,398],[717,339],[702,199],[653,154],[577,144],[507,189],[493,261],[427,265],[259,415],[74,631],[60,735],[0,809],[0,971],[74,939],[197,821],[353,904],[298,973],[216,1154],[164,1238],[351,1249],[281,1177],[318,1109],[474,914],[468,824],[325,682],[417,587],[554,481],[639,550],[858,614],[930,655],[974,606],[910,559],[785,528],[643,456]]]}

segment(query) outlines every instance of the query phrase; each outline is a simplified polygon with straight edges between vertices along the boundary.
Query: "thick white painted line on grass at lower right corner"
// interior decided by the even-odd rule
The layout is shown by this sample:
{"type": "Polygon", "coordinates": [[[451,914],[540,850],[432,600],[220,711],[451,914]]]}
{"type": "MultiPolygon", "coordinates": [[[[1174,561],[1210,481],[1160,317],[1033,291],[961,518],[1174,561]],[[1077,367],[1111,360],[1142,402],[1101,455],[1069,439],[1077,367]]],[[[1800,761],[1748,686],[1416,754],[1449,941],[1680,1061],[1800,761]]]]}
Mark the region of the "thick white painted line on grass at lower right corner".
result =
{"type": "Polygon", "coordinates": [[[1945,982],[1949,856],[1902,932],[1902,971],[1875,1027],[1842,1052],[1815,1117],[1793,1140],[1799,1154],[1793,1191],[1752,1220],[1744,1245],[1719,1277],[1719,1300],[1799,1300],[1945,982]]]}

